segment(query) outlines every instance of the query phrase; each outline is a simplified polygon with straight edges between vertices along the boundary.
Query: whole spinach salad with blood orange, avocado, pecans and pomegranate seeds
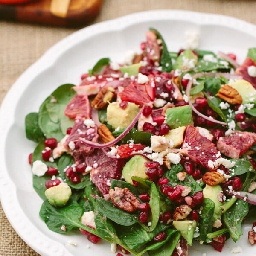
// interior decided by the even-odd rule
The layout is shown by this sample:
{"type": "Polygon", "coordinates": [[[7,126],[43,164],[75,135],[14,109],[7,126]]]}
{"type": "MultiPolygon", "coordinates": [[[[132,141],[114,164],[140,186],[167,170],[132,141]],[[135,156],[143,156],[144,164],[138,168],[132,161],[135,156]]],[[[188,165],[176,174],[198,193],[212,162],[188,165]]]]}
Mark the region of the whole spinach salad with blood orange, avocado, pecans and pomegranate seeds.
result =
{"type": "Polygon", "coordinates": [[[256,243],[256,48],[239,65],[197,42],[170,52],[151,28],[140,53],[100,59],[27,114],[50,230],[116,256],[186,256],[196,241],[221,252],[247,219],[256,243]]]}

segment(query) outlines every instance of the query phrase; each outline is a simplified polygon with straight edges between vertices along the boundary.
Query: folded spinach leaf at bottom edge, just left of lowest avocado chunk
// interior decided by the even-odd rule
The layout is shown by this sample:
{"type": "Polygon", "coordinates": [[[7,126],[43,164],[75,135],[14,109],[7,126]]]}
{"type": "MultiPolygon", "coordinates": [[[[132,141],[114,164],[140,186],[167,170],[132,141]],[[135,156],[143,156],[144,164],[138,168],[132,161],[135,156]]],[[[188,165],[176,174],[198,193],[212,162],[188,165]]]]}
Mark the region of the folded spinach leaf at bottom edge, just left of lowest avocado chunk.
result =
{"type": "Polygon", "coordinates": [[[149,256],[169,256],[172,255],[179,241],[180,232],[177,230],[167,230],[167,237],[164,241],[152,244],[146,249],[149,256]]]}

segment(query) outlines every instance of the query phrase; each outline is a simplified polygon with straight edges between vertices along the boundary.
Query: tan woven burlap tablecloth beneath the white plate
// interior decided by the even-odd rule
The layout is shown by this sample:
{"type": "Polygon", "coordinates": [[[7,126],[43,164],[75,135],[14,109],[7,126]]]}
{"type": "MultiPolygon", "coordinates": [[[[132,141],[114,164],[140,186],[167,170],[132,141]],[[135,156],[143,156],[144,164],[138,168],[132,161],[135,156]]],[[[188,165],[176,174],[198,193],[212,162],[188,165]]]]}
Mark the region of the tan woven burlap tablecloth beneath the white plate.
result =
{"type": "MultiPolygon", "coordinates": [[[[132,12],[183,9],[218,13],[256,24],[254,0],[105,0],[92,23],[132,12]]],[[[76,29],[0,21],[0,103],[14,81],[49,47],[76,29]]],[[[234,39],[238,40],[238,39],[234,39]]],[[[0,205],[0,256],[35,256],[9,224],[0,205]]]]}

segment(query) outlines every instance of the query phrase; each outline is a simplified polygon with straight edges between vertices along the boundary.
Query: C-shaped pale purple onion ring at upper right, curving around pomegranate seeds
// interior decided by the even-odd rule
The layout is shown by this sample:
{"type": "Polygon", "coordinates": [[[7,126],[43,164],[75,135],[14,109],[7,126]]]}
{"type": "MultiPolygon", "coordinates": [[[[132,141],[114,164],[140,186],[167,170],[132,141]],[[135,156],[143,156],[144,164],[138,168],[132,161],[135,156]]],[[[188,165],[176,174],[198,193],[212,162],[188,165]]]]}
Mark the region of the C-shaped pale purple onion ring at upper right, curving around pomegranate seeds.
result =
{"type": "MultiPolygon", "coordinates": [[[[230,73],[213,73],[213,72],[197,73],[197,74],[195,74],[194,76],[192,76],[192,79],[189,80],[189,83],[188,83],[188,85],[187,85],[187,87],[186,87],[186,96],[188,97],[188,99],[189,99],[189,97],[190,97],[190,90],[191,90],[191,88],[192,88],[193,79],[197,79],[198,77],[204,77],[204,76],[210,76],[210,77],[224,76],[224,77],[227,78],[227,79],[230,79],[230,78],[239,79],[239,78],[241,78],[241,76],[233,75],[233,74],[230,74],[230,73]]],[[[193,106],[193,104],[192,104],[192,102],[191,102],[190,100],[188,101],[188,103],[189,103],[189,106],[192,108],[192,110],[193,110],[196,114],[198,114],[198,116],[201,116],[201,117],[203,117],[204,119],[206,119],[206,120],[208,120],[208,121],[211,121],[211,122],[214,122],[214,123],[216,123],[216,124],[218,124],[218,125],[225,125],[225,126],[227,126],[227,123],[221,122],[221,121],[218,121],[218,120],[215,120],[215,119],[212,119],[212,118],[210,118],[209,116],[205,116],[204,114],[202,114],[201,112],[199,112],[199,111],[193,106]]]]}

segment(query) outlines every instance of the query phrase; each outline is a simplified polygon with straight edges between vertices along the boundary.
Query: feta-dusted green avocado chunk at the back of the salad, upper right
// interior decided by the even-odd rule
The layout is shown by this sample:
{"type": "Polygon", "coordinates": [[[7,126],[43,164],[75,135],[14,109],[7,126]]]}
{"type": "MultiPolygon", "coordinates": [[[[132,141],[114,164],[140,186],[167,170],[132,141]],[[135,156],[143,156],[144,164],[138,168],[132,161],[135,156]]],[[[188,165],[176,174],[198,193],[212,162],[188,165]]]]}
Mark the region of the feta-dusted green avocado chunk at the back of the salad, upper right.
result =
{"type": "Polygon", "coordinates": [[[192,70],[198,62],[198,56],[192,52],[192,50],[185,50],[181,52],[177,58],[173,69],[179,69],[182,71],[192,70]]]}

